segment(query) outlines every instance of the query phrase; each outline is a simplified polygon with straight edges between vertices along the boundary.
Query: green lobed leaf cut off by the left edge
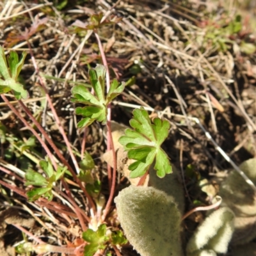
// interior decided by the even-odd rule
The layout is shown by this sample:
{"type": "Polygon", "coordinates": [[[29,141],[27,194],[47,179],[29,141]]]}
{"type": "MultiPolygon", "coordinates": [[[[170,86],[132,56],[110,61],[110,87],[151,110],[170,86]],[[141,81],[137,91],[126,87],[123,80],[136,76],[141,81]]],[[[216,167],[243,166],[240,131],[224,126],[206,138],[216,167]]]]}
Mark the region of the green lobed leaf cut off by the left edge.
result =
{"type": "Polygon", "coordinates": [[[22,58],[19,61],[17,52],[11,51],[6,60],[4,49],[0,46],[0,93],[13,90],[17,99],[28,98],[28,92],[24,90],[23,85],[18,81],[25,58],[26,52],[22,52],[22,58]]]}

